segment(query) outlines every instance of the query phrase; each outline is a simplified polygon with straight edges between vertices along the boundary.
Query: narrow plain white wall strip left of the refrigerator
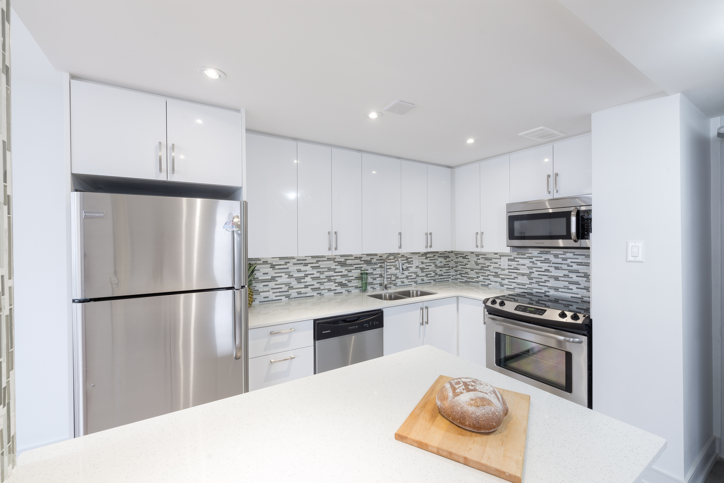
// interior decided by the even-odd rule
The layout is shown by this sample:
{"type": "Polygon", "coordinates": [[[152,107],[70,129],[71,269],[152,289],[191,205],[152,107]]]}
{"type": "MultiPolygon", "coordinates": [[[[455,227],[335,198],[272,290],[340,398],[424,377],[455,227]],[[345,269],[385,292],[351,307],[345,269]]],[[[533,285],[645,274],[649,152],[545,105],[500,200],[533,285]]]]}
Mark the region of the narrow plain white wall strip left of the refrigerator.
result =
{"type": "Polygon", "coordinates": [[[15,387],[20,453],[73,436],[63,83],[12,11],[15,387]]]}

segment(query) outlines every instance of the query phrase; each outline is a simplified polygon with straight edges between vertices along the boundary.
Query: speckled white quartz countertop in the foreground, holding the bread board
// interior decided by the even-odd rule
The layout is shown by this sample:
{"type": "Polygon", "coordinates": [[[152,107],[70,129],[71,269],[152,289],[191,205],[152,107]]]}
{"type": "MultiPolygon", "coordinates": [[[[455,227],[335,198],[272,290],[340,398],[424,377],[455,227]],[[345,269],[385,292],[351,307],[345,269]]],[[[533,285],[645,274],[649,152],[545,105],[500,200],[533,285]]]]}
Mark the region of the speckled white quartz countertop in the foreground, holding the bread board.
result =
{"type": "Polygon", "coordinates": [[[22,453],[11,483],[502,482],[395,440],[440,375],[531,395],[523,482],[635,482],[663,438],[429,345],[22,453]]]}

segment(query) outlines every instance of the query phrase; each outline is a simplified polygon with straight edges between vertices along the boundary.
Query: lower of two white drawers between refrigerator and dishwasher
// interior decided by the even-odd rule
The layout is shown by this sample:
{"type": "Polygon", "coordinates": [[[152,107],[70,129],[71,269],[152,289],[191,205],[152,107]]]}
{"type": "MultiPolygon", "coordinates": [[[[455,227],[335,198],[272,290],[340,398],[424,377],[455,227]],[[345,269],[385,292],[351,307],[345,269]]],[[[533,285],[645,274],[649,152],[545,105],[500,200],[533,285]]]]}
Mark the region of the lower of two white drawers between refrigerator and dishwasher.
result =
{"type": "Polygon", "coordinates": [[[249,359],[249,390],[314,374],[314,346],[249,359]],[[294,356],[293,359],[287,359],[294,356]],[[279,361],[279,359],[287,359],[279,361]],[[279,362],[271,362],[279,361],[279,362]]]}

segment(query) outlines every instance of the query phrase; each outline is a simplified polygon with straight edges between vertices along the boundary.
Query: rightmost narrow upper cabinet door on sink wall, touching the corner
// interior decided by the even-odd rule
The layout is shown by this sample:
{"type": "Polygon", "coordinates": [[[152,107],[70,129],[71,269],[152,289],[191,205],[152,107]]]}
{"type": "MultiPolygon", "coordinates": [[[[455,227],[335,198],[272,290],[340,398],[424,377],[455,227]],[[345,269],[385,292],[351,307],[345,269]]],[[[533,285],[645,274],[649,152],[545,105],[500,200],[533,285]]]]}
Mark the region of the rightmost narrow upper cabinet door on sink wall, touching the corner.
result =
{"type": "Polygon", "coordinates": [[[427,230],[430,233],[428,251],[452,250],[451,171],[450,168],[439,166],[427,167],[427,230]]]}

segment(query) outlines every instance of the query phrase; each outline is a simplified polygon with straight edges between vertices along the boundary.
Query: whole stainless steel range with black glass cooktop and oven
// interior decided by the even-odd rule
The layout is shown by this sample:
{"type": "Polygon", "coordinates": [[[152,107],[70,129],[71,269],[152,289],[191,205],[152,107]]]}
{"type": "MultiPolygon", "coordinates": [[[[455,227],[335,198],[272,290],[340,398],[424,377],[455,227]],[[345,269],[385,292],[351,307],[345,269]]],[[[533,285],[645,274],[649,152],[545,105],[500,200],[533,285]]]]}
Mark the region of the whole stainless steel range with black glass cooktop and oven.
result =
{"type": "Polygon", "coordinates": [[[592,408],[588,302],[521,292],[484,303],[488,369],[592,408]]]}

